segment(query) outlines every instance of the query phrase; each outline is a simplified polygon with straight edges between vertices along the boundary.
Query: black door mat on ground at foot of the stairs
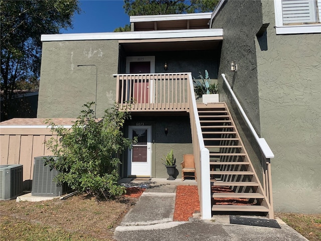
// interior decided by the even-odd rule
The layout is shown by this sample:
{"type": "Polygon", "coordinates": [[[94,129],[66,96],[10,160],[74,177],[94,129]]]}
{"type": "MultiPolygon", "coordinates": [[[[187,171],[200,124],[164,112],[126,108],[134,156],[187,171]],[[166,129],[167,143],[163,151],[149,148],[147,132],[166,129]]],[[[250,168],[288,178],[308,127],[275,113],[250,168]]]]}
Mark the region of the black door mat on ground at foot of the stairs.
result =
{"type": "Polygon", "coordinates": [[[250,225],[250,226],[260,226],[260,227],[281,228],[278,222],[274,219],[240,217],[235,215],[230,215],[230,223],[250,225]]]}

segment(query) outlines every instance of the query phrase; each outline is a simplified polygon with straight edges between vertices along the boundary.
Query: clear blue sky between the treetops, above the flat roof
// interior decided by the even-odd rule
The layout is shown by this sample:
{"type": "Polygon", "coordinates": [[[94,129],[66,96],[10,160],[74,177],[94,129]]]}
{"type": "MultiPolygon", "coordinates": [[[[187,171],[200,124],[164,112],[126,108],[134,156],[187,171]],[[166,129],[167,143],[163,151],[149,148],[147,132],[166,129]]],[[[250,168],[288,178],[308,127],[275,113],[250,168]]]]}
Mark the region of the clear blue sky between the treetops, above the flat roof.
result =
{"type": "Polygon", "coordinates": [[[73,18],[73,29],[61,29],[63,34],[113,32],[115,28],[129,24],[122,0],[79,1],[81,14],[73,18]]]}

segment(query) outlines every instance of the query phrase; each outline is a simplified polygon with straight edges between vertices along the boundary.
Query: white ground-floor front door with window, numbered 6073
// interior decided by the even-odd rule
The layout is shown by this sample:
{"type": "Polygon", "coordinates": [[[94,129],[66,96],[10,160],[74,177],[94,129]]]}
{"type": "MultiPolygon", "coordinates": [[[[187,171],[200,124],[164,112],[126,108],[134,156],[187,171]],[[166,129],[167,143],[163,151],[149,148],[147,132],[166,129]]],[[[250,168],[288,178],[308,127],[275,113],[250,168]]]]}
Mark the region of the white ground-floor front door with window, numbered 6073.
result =
{"type": "Polygon", "coordinates": [[[128,176],[150,177],[151,126],[129,126],[128,138],[137,137],[137,143],[128,150],[128,176]]]}

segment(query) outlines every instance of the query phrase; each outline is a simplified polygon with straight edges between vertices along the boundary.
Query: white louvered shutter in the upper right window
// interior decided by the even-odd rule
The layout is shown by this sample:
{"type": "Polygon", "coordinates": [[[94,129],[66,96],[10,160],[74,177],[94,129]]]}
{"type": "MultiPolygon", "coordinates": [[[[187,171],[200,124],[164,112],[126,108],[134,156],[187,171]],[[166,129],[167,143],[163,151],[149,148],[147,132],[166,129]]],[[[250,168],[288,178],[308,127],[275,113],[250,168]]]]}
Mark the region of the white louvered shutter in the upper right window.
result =
{"type": "Polygon", "coordinates": [[[282,0],[283,24],[317,23],[321,0],[282,0]]]}

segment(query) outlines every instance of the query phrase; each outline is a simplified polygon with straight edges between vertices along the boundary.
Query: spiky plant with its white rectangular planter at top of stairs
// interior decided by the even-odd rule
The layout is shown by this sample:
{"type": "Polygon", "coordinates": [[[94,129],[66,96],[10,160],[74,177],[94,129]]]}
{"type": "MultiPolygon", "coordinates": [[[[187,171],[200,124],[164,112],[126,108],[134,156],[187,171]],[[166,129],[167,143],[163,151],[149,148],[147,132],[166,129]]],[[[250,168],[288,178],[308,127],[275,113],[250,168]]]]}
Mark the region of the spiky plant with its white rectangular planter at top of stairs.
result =
{"type": "Polygon", "coordinates": [[[200,75],[198,76],[201,78],[200,80],[196,80],[194,78],[194,91],[197,95],[196,99],[202,97],[203,103],[215,103],[219,102],[219,94],[217,93],[218,85],[215,83],[211,83],[211,79],[207,70],[205,70],[205,78],[203,77],[202,73],[199,72],[200,75]]]}

